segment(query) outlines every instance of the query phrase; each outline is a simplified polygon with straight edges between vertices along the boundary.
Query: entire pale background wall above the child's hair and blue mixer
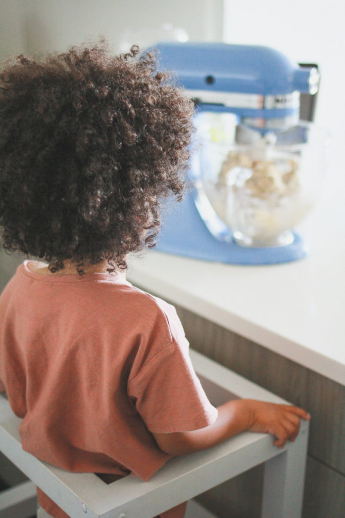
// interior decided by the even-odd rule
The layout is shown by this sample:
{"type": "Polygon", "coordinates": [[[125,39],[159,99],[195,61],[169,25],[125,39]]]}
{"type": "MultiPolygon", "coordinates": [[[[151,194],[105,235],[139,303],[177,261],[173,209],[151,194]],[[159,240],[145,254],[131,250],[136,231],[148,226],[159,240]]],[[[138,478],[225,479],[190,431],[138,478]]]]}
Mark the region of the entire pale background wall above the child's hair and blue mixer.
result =
{"type": "Polygon", "coordinates": [[[0,60],[20,52],[64,51],[100,35],[114,50],[127,50],[134,43],[145,46],[160,39],[159,27],[167,23],[185,30],[191,40],[224,38],[269,45],[295,61],[320,65],[317,121],[331,130],[340,152],[345,139],[342,4],[341,0],[0,0],[0,60]]]}

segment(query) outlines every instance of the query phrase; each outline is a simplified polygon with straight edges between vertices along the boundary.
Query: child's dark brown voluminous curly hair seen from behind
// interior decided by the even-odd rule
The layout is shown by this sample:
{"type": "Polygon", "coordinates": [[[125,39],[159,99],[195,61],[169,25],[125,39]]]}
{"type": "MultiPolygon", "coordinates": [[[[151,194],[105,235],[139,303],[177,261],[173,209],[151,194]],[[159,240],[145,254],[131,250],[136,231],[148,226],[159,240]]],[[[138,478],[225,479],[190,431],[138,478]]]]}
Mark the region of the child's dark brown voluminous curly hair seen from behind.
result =
{"type": "MultiPolygon", "coordinates": [[[[104,42],[0,69],[0,227],[6,251],[52,272],[155,244],[160,205],[182,198],[193,105],[153,53],[104,42]]],[[[80,268],[83,272],[82,268],[80,268]]]]}

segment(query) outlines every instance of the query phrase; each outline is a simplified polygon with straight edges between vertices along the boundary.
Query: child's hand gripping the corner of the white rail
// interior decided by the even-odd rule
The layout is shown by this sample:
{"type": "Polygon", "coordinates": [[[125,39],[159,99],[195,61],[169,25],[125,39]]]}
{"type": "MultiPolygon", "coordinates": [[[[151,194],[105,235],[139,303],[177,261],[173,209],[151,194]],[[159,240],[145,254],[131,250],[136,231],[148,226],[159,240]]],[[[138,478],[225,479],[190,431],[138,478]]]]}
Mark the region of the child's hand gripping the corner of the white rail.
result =
{"type": "Polygon", "coordinates": [[[291,405],[276,405],[264,401],[248,400],[252,412],[249,431],[268,433],[276,437],[274,444],[282,448],[287,440],[293,442],[299,431],[301,418],[310,419],[308,412],[291,405]]]}

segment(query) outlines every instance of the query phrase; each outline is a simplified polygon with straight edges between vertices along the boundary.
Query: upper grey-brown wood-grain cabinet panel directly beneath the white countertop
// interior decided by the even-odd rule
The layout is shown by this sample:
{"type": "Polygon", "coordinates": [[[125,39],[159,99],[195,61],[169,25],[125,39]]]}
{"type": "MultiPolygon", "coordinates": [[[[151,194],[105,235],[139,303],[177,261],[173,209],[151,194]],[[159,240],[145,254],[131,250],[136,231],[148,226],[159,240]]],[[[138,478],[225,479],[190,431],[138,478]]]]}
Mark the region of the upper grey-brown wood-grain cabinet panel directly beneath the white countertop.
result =
{"type": "Polygon", "coordinates": [[[345,474],[345,387],[186,309],[176,307],[193,349],[306,408],[309,453],[345,474]]]}

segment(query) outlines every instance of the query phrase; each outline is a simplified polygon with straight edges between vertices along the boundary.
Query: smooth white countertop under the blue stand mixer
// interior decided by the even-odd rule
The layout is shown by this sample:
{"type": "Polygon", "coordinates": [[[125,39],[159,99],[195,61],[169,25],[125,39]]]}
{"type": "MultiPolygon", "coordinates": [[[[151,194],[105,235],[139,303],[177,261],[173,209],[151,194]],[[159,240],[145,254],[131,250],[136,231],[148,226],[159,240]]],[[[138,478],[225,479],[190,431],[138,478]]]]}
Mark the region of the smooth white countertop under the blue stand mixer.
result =
{"type": "Polygon", "coordinates": [[[153,251],[129,281],[345,385],[344,169],[329,172],[302,228],[303,260],[237,266],[153,251]]]}

